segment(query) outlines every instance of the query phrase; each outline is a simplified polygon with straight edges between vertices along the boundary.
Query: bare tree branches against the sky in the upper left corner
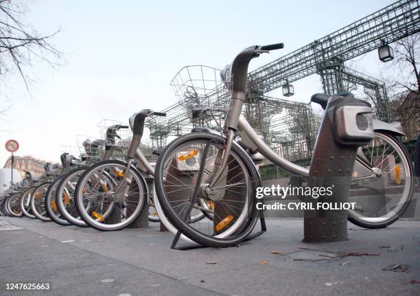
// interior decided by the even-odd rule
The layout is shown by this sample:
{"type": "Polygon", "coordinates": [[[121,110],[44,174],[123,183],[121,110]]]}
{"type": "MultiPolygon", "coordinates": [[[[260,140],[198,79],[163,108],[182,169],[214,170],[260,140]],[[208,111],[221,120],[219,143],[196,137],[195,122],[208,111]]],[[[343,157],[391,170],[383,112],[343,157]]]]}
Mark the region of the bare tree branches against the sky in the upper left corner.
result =
{"type": "Polygon", "coordinates": [[[23,24],[21,19],[27,10],[21,1],[0,0],[0,83],[11,73],[18,73],[30,93],[34,82],[34,63],[46,62],[51,67],[58,65],[62,52],[49,43],[52,34],[40,34],[23,24]]]}

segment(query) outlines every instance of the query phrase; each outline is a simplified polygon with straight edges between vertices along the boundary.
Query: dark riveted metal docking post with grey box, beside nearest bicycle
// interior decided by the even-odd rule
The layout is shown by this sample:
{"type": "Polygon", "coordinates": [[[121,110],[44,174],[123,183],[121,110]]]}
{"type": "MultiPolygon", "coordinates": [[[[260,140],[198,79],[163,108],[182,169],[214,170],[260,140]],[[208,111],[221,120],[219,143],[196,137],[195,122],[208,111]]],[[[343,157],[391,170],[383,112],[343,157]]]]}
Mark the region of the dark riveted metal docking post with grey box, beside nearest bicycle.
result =
{"type": "Polygon", "coordinates": [[[313,205],[304,212],[304,242],[347,240],[347,209],[351,175],[358,148],[374,138],[371,105],[352,93],[316,94],[312,102],[325,107],[316,139],[307,181],[308,187],[331,187],[331,196],[305,202],[313,205]],[[317,207],[318,203],[338,205],[338,209],[317,207]]]}

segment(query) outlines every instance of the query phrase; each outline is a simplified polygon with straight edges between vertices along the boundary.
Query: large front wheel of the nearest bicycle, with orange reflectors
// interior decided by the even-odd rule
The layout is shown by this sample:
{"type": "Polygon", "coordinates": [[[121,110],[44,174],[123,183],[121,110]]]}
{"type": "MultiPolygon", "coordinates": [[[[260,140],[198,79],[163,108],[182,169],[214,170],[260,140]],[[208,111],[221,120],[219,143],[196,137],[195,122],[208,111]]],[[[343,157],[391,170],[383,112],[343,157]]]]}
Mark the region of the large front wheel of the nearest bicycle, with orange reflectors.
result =
{"type": "Polygon", "coordinates": [[[238,244],[258,218],[259,177],[237,144],[233,143],[228,165],[213,191],[206,191],[225,141],[214,133],[191,133],[172,141],[156,163],[155,187],[165,217],[187,238],[207,247],[238,244]],[[212,218],[192,219],[202,212],[212,218]]]}

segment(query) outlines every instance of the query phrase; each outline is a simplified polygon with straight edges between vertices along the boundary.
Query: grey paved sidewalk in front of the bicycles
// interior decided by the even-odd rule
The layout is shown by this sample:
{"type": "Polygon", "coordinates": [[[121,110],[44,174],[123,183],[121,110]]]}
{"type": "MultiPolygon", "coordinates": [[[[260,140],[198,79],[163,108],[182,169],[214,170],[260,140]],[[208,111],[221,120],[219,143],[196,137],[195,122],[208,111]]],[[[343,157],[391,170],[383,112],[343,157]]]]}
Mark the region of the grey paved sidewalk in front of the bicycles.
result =
{"type": "Polygon", "coordinates": [[[100,232],[0,220],[0,295],[420,295],[411,282],[420,281],[418,221],[349,224],[346,242],[308,244],[303,220],[268,220],[266,234],[240,247],[176,251],[157,223],[100,232]],[[19,282],[51,288],[5,290],[19,282]]]}

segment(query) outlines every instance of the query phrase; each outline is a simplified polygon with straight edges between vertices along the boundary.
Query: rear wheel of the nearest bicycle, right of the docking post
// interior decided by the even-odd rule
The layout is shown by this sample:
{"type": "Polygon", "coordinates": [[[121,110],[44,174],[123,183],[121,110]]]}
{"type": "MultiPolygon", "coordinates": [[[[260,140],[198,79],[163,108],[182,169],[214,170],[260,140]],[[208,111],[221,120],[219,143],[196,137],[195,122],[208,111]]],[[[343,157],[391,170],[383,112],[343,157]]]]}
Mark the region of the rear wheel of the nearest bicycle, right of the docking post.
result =
{"type": "Polygon", "coordinates": [[[365,228],[394,223],[412,198],[414,170],[408,152],[396,137],[375,132],[371,144],[358,149],[351,181],[349,221],[365,228]]]}

